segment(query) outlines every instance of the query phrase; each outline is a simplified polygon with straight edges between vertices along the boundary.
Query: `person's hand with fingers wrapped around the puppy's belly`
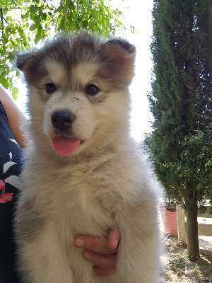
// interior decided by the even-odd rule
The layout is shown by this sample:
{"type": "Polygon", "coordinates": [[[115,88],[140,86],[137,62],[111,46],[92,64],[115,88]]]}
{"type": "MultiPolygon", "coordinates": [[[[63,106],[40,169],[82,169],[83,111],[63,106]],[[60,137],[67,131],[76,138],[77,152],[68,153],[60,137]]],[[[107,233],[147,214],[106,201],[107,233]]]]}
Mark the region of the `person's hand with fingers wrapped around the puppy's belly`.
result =
{"type": "Polygon", "coordinates": [[[93,262],[95,275],[107,276],[116,270],[119,240],[119,232],[112,228],[108,237],[76,236],[73,246],[84,248],[83,257],[93,262]]]}

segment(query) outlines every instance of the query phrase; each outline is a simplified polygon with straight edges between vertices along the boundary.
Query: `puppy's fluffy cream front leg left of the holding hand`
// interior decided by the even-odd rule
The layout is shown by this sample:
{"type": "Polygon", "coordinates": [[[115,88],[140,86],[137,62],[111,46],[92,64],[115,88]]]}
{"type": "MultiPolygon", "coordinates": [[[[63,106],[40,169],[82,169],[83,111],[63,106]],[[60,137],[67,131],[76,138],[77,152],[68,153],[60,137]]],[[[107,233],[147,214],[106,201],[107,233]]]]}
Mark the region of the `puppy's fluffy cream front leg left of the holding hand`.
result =
{"type": "Polygon", "coordinates": [[[73,273],[66,253],[59,246],[55,224],[49,222],[42,233],[25,241],[20,248],[20,267],[24,283],[72,283],[73,273]]]}

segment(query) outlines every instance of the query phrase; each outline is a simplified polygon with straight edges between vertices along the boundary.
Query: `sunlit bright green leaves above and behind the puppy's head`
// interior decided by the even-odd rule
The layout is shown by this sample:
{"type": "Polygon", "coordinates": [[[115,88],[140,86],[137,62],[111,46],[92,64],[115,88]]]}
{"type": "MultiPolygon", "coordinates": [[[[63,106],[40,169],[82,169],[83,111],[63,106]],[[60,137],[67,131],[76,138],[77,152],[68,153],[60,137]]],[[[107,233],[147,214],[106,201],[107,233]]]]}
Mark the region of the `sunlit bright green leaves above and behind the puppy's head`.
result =
{"type": "Polygon", "coordinates": [[[0,0],[0,16],[0,83],[15,99],[13,86],[20,74],[13,61],[18,50],[68,30],[84,28],[109,36],[124,29],[122,12],[104,0],[0,0]]]}

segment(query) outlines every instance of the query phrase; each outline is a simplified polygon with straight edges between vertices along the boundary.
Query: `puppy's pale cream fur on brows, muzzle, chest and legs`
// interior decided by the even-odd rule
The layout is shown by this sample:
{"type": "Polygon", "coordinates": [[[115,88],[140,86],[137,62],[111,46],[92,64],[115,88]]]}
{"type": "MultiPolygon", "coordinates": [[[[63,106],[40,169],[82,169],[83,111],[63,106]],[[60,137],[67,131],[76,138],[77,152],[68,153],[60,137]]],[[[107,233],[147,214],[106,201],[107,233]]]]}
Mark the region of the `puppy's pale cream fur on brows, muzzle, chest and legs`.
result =
{"type": "MultiPolygon", "coordinates": [[[[62,85],[61,64],[47,64],[46,79],[62,85]]],[[[104,89],[95,71],[95,64],[81,64],[73,68],[71,80],[104,89]]],[[[59,88],[44,103],[36,86],[29,92],[34,142],[26,149],[16,214],[23,282],[158,283],[159,192],[129,137],[129,93],[111,90],[103,102],[90,103],[77,89],[64,93],[59,88]],[[86,140],[71,156],[59,156],[52,146],[51,115],[58,109],[76,116],[72,134],[86,140]],[[112,226],[121,234],[117,272],[93,275],[92,263],[73,247],[73,237],[105,236],[112,226]]]]}

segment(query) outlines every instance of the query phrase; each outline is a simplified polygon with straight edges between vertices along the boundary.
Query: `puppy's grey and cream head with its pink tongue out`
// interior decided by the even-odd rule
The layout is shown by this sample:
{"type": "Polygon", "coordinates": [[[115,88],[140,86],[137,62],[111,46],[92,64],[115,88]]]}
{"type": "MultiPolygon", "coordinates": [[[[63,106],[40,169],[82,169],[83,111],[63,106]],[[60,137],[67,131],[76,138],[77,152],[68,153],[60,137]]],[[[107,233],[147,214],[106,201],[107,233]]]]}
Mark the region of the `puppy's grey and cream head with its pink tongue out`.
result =
{"type": "Polygon", "coordinates": [[[35,137],[47,139],[60,155],[112,142],[129,125],[134,60],[129,42],[103,41],[85,32],[19,54],[35,137]]]}

